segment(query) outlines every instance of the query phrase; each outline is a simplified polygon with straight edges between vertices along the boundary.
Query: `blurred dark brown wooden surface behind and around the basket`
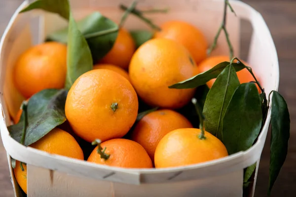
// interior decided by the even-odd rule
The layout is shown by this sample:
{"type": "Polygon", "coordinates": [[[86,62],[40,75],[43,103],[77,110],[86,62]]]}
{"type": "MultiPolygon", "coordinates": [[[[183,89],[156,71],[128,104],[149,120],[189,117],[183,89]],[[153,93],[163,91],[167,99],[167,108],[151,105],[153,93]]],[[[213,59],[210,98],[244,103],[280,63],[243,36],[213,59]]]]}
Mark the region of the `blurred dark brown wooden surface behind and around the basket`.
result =
{"type": "MultiPolygon", "coordinates": [[[[296,119],[296,0],[243,1],[262,14],[273,36],[280,63],[279,92],[286,98],[291,115],[289,153],[273,188],[272,197],[296,197],[296,122],[294,122],[296,119]]],[[[22,0],[0,0],[0,35],[21,2],[22,0]]],[[[248,32],[244,33],[246,38],[243,39],[242,46],[247,46],[248,32]]],[[[269,140],[270,135],[267,136],[261,156],[255,197],[265,197],[267,193],[269,140]]],[[[0,197],[13,197],[2,141],[0,141],[0,197]]]]}

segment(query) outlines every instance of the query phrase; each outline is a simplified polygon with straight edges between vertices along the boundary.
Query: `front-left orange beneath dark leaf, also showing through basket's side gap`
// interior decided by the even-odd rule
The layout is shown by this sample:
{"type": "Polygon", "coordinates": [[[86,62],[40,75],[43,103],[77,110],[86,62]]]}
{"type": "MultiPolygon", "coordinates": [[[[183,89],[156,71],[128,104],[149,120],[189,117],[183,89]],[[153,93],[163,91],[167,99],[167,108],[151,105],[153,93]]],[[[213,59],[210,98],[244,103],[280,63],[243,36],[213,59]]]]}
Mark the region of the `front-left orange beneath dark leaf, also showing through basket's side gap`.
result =
{"type": "MultiPolygon", "coordinates": [[[[78,160],[83,160],[83,152],[72,135],[58,128],[53,129],[34,144],[30,145],[50,154],[62,155],[78,160]]],[[[22,171],[20,162],[16,162],[14,176],[20,187],[27,194],[27,166],[23,164],[22,171]]]]}

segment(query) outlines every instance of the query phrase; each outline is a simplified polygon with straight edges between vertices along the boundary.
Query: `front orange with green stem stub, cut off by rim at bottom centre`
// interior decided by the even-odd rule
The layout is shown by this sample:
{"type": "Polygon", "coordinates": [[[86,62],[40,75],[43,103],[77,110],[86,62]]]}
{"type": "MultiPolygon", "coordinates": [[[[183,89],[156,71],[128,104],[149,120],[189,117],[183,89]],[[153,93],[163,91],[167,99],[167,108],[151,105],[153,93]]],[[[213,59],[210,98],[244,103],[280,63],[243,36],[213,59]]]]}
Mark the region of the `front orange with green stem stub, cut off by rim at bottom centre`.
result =
{"type": "Polygon", "coordinates": [[[96,147],[88,158],[88,162],[127,168],[150,168],[152,162],[146,150],[137,142],[129,139],[111,139],[101,144],[108,159],[98,154],[96,147]]]}

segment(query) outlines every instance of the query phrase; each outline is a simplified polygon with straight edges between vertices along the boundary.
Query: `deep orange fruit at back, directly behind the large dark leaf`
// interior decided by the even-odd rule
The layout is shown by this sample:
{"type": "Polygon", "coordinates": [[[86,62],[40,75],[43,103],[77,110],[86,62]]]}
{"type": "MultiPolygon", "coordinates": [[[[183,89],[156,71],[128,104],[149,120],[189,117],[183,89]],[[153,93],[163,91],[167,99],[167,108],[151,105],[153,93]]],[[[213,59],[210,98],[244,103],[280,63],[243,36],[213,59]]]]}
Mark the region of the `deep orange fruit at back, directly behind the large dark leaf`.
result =
{"type": "Polygon", "coordinates": [[[100,63],[112,64],[127,69],[135,50],[136,45],[131,34],[121,28],[112,49],[100,60],[100,63]]]}

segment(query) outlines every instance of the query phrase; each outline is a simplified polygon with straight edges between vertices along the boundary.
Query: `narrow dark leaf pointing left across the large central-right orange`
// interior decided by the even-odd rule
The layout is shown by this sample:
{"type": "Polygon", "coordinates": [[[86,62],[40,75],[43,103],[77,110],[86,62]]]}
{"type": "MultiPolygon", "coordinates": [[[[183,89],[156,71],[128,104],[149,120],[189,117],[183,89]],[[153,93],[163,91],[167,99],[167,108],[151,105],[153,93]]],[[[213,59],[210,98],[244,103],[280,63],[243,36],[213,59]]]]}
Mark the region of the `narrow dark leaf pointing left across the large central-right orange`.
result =
{"type": "MultiPolygon", "coordinates": [[[[196,88],[198,86],[204,85],[211,79],[217,78],[218,75],[222,72],[222,70],[229,64],[230,64],[229,62],[222,62],[217,66],[214,66],[213,68],[203,73],[200,73],[189,79],[186,79],[185,81],[181,81],[172,86],[169,86],[169,88],[188,89],[188,88],[196,88]]],[[[236,63],[232,63],[232,66],[235,68],[235,71],[240,71],[245,68],[245,66],[243,66],[242,64],[236,64],[236,63]]]]}

